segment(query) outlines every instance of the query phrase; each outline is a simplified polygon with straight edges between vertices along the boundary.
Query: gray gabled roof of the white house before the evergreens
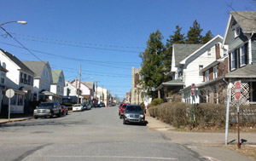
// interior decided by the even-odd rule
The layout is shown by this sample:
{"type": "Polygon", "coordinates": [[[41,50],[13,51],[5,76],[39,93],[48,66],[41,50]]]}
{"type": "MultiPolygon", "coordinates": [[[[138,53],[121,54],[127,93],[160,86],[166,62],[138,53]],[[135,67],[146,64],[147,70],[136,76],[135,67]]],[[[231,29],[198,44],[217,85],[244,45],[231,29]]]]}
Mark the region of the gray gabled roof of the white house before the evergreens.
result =
{"type": "Polygon", "coordinates": [[[202,44],[174,43],[175,66],[178,66],[181,60],[191,55],[196,49],[201,48],[201,46],[202,44]]]}

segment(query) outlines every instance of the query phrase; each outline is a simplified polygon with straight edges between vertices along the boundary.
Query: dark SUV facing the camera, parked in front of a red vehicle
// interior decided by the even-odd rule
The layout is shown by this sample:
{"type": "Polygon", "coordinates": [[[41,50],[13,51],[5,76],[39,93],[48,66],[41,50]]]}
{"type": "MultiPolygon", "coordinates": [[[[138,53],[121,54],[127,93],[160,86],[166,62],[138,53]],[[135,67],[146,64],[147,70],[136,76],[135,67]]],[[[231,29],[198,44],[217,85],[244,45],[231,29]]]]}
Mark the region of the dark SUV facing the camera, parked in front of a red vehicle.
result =
{"type": "Polygon", "coordinates": [[[123,124],[141,123],[145,124],[145,115],[142,106],[128,105],[124,113],[123,124]]]}

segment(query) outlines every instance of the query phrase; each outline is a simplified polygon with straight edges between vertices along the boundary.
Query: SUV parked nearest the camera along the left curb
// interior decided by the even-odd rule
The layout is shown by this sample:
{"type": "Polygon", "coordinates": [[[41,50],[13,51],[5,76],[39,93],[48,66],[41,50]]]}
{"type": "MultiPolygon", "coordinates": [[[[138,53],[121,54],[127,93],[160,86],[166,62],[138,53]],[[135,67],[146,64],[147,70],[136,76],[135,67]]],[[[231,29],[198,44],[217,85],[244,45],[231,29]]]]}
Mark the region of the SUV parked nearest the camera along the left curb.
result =
{"type": "Polygon", "coordinates": [[[53,118],[54,115],[61,117],[61,105],[59,102],[40,103],[33,112],[34,118],[53,118]]]}

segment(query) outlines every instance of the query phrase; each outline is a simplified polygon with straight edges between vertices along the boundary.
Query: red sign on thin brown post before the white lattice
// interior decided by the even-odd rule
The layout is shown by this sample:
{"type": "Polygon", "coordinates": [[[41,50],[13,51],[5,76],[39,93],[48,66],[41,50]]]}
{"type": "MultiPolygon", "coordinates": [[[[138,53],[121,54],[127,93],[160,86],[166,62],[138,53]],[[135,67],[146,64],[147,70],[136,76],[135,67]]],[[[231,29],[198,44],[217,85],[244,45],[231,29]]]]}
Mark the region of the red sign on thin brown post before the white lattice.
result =
{"type": "Polygon", "coordinates": [[[239,100],[241,98],[241,81],[235,82],[235,99],[236,99],[236,107],[237,107],[237,133],[238,133],[238,141],[237,147],[241,148],[240,144],[240,131],[239,131],[239,100]]]}

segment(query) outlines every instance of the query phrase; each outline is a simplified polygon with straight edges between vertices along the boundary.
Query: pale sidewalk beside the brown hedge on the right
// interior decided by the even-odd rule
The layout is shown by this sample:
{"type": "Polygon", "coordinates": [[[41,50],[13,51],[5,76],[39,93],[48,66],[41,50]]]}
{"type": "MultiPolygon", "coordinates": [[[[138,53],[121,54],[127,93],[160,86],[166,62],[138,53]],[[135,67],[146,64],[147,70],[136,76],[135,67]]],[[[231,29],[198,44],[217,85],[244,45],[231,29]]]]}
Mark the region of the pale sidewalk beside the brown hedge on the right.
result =
{"type": "MultiPolygon", "coordinates": [[[[146,116],[146,120],[148,121],[148,129],[159,131],[167,141],[199,153],[203,156],[203,160],[253,160],[224,148],[225,133],[176,131],[172,125],[150,116],[146,116]]],[[[241,133],[240,138],[246,140],[241,144],[241,148],[244,145],[254,146],[256,152],[256,133],[241,133]]],[[[233,141],[230,145],[236,145],[237,134],[229,133],[228,140],[233,141]]]]}

